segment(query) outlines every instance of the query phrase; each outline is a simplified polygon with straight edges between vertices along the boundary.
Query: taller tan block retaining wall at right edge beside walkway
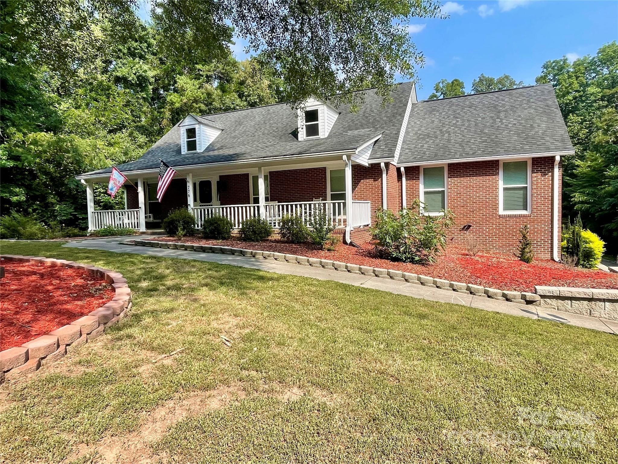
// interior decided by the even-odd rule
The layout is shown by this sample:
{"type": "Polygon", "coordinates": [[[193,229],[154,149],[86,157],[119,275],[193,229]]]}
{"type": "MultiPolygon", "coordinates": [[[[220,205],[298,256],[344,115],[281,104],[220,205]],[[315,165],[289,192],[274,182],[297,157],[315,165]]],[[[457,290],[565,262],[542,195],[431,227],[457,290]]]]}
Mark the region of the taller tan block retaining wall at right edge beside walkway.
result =
{"type": "Polygon", "coordinates": [[[558,311],[618,320],[618,290],[535,286],[539,306],[558,311]]]}

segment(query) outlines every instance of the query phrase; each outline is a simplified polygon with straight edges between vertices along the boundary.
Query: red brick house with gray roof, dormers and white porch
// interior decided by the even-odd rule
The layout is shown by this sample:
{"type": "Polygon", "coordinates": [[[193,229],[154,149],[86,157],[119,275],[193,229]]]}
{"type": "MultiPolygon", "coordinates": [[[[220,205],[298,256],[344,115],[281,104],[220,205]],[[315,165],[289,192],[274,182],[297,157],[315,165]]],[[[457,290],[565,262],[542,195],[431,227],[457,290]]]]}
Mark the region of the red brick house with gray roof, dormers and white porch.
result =
{"type": "Polygon", "coordinates": [[[344,242],[363,242],[378,208],[420,199],[423,213],[455,213],[450,243],[470,237],[486,251],[512,252],[528,223],[535,254],[558,257],[561,157],[574,153],[551,85],[417,101],[412,83],[392,102],[365,90],[360,111],[311,99],[197,116],[188,114],[137,161],[117,166],[133,184],[125,210],[96,211],[93,183],[111,169],[78,176],[87,186],[90,229],[141,231],[188,207],[200,227],[225,215],[235,227],[287,213],[328,212],[344,242]],[[177,171],[156,200],[159,158],[177,171]]]}

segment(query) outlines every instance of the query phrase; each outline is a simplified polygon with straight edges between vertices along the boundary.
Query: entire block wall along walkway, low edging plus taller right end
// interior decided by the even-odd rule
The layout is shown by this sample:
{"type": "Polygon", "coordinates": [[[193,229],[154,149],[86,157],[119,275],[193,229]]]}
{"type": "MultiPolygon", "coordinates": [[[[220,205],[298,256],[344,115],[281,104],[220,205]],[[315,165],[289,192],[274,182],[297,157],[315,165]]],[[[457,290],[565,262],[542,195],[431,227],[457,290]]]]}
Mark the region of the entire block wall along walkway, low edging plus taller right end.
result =
{"type": "Polygon", "coordinates": [[[378,267],[361,266],[358,264],[348,264],[331,261],[328,259],[310,258],[306,256],[295,256],[292,254],[276,253],[272,251],[258,251],[218,245],[196,245],[190,243],[159,242],[155,240],[139,239],[125,241],[122,242],[122,244],[205,253],[235,254],[239,256],[251,256],[259,259],[274,259],[277,261],[286,261],[304,266],[322,267],[324,269],[337,270],[341,272],[350,272],[353,274],[406,281],[415,285],[425,285],[429,287],[441,288],[442,290],[452,290],[458,293],[468,293],[475,296],[480,296],[482,298],[492,298],[519,304],[534,304],[536,306],[551,307],[559,311],[575,312],[577,314],[585,314],[586,316],[604,317],[605,319],[618,320],[618,290],[536,286],[535,293],[526,291],[508,291],[499,290],[497,288],[483,287],[481,285],[473,285],[470,283],[452,282],[398,270],[380,269],[378,267]],[[543,290],[540,292],[538,289],[550,290],[545,290],[545,293],[543,293],[543,290]],[[556,291],[559,292],[561,290],[562,295],[560,293],[555,293],[556,291]],[[548,294],[547,292],[552,293],[548,294]],[[580,293],[575,294],[577,292],[580,293]],[[567,300],[568,303],[565,303],[567,300]],[[586,312],[586,308],[588,309],[588,312],[586,312]],[[572,311],[569,311],[569,309],[572,311]]]}

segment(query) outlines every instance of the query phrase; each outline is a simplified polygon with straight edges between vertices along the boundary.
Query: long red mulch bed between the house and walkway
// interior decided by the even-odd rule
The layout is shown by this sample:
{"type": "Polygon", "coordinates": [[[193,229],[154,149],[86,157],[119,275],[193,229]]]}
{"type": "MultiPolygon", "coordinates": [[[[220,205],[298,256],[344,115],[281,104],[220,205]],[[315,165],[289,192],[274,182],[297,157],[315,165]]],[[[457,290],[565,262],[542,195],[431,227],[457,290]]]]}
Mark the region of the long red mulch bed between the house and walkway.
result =
{"type": "Polygon", "coordinates": [[[260,243],[239,240],[205,240],[198,237],[182,239],[160,237],[151,240],[289,253],[350,264],[401,270],[433,278],[493,287],[499,290],[534,291],[535,285],[618,289],[617,273],[567,268],[551,259],[537,259],[531,264],[525,264],[514,256],[506,254],[477,254],[472,257],[457,249],[449,249],[446,254],[438,258],[438,262],[430,265],[418,265],[378,259],[373,256],[370,244],[362,249],[340,244],[336,251],[318,251],[307,245],[286,243],[277,239],[260,243]]]}

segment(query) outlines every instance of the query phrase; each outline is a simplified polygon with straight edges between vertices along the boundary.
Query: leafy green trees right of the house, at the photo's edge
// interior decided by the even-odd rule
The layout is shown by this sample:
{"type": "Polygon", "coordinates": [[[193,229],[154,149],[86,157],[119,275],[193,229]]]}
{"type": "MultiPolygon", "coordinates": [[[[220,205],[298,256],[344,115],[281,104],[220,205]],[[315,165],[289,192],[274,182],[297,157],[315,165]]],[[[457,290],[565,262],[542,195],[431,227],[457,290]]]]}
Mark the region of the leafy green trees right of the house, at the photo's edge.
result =
{"type": "Polygon", "coordinates": [[[618,238],[618,44],[595,56],[547,61],[537,84],[549,83],[575,147],[564,166],[564,215],[582,213],[586,228],[618,238]]]}

